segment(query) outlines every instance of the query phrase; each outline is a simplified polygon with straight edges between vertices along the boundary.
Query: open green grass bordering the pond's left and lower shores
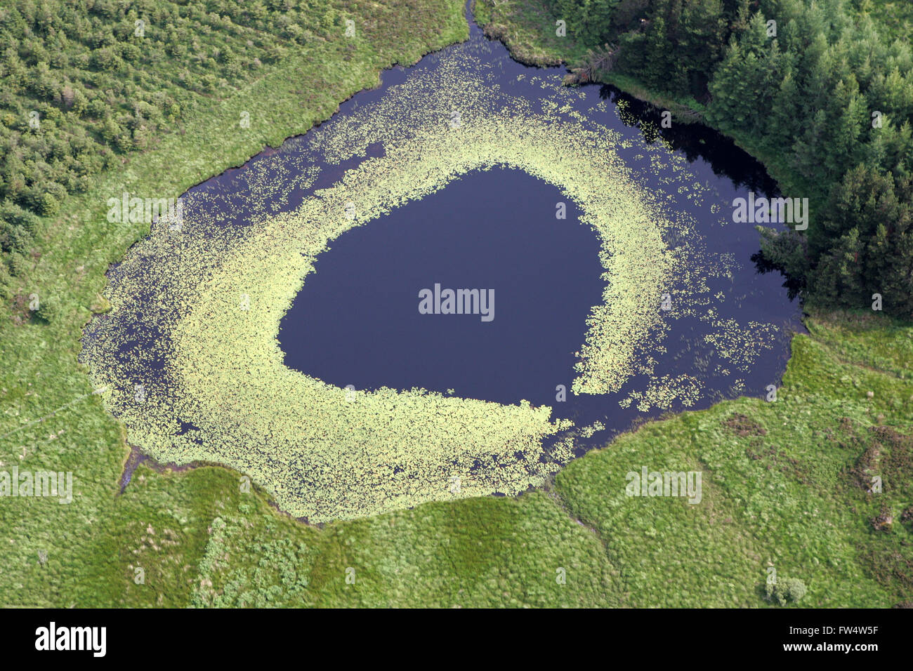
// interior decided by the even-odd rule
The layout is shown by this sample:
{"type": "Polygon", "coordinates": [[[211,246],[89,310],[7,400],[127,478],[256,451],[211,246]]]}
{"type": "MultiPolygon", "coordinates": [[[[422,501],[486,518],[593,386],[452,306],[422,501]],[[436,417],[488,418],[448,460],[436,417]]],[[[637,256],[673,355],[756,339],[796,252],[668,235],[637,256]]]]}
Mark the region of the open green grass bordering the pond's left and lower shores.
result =
{"type": "Polygon", "coordinates": [[[145,230],[107,224],[106,198],[122,184],[178,195],[264,143],[306,131],[373,85],[378,68],[465,37],[460,3],[421,6],[425,30],[415,8],[404,9],[409,20],[390,16],[385,37],[350,60],[321,45],[194,110],[47,222],[46,252],[19,291],[53,296],[60,313],[47,324],[0,325],[0,435],[16,432],[0,438],[0,468],[72,470],[76,499],[0,499],[3,602],[762,606],[771,565],[807,585],[803,606],[913,601],[904,515],[913,504],[913,329],[872,314],[814,314],[811,334],[792,341],[776,402],[743,398],[649,423],[519,498],[316,528],[243,491],[222,467],[143,465],[118,494],[123,432],[76,357],[104,271],[145,230]],[[246,132],[236,127],[243,110],[246,132]],[[625,473],[641,466],[701,471],[702,502],[625,497],[625,473]],[[866,491],[873,475],[882,493],[866,491]],[[890,524],[878,521],[885,515],[890,524]]]}

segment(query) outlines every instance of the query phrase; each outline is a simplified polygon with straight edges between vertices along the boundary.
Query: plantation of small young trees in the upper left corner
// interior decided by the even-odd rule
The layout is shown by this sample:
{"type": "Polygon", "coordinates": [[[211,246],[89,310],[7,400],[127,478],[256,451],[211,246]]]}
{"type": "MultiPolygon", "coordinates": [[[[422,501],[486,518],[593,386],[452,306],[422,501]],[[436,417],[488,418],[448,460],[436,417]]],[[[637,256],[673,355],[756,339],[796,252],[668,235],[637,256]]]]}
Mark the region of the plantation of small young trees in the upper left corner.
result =
{"type": "MultiPolygon", "coordinates": [[[[37,215],[170,131],[197,100],[341,30],[318,0],[7,0],[0,6],[0,292],[37,215]]],[[[8,298],[8,297],[7,297],[8,298]]]]}

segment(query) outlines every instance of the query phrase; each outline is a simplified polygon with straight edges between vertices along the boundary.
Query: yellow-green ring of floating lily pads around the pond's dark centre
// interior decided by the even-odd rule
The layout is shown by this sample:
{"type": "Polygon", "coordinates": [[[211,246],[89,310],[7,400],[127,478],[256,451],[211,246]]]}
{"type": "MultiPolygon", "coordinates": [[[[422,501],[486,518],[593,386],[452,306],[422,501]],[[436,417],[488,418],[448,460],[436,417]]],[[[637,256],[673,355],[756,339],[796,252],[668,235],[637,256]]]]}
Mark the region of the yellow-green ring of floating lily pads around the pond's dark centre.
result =
{"type": "MultiPolygon", "coordinates": [[[[478,46],[446,50],[380,100],[287,142],[282,161],[250,163],[234,193],[192,190],[179,230],[157,222],[110,271],[112,309],[89,324],[82,359],[131,444],[162,461],[236,468],[314,522],[540,485],[571,458],[574,436],[604,427],[526,402],[342,389],[286,367],[278,345],[279,321],[334,238],[493,166],[556,186],[601,241],[603,303],[587,320],[573,393],[624,393],[641,409],[695,403],[700,376],[669,378],[657,365],[683,317],[707,324],[731,371],[771,346],[774,327],[736,323],[710,293],[708,278],[732,270],[673,207],[670,194],[700,204],[708,190],[685,159],[575,110],[584,93],[560,77],[500,86],[478,46]],[[622,146],[662,172],[661,190],[638,184],[622,146]],[[627,389],[635,376],[649,382],[627,389]]],[[[604,117],[604,102],[595,109],[604,117]]]]}

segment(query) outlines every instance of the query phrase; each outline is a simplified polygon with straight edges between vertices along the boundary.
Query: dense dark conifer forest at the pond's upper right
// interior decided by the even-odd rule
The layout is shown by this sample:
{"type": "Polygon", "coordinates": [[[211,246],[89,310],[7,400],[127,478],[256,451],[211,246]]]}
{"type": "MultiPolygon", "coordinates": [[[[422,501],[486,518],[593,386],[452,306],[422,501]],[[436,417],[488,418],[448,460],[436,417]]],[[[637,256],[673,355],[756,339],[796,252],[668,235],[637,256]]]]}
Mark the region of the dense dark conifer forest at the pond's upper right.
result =
{"type": "MultiPolygon", "coordinates": [[[[913,56],[845,0],[549,0],[614,68],[692,96],[812,204],[804,233],[767,230],[766,261],[807,298],[913,317],[913,56]]],[[[866,6],[864,1],[858,6],[866,6]]],[[[603,62],[606,62],[603,59],[603,62]]]]}

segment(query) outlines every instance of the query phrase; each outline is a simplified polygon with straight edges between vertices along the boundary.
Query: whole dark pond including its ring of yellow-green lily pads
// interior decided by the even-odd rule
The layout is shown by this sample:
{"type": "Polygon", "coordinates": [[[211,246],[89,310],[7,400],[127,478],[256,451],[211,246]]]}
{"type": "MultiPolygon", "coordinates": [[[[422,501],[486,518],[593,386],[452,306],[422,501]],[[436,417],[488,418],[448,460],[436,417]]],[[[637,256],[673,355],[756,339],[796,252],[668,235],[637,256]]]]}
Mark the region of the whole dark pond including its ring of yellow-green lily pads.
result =
{"type": "Polygon", "coordinates": [[[779,382],[800,309],[732,221],[776,193],[761,165],[470,26],[191,189],[110,270],[82,360],[131,443],[326,521],[517,494],[779,382]]]}

